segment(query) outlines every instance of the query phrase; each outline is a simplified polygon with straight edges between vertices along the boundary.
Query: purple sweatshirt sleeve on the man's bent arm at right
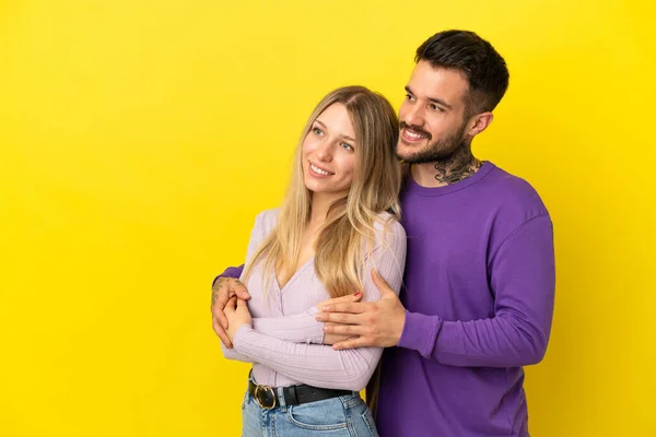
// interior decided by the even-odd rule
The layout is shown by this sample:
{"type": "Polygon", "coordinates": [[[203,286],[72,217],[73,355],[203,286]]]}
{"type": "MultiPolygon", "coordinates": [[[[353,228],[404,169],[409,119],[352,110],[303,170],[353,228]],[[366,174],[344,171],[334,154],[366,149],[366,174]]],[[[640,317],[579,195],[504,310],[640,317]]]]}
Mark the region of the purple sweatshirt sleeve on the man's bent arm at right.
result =
{"type": "Polygon", "coordinates": [[[553,228],[548,215],[524,223],[492,256],[494,317],[444,321],[407,312],[400,347],[453,366],[515,367],[540,362],[547,350],[555,290],[553,228]]]}

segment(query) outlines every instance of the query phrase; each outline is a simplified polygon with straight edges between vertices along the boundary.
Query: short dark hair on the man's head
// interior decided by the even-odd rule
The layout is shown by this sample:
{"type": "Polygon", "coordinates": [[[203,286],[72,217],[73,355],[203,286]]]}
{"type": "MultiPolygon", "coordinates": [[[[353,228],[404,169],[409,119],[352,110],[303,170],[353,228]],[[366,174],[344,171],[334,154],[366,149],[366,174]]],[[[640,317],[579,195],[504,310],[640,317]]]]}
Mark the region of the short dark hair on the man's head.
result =
{"type": "Polygon", "coordinates": [[[469,82],[469,116],[492,110],[508,87],[505,60],[485,39],[469,31],[444,31],[426,39],[414,61],[462,72],[469,82]]]}

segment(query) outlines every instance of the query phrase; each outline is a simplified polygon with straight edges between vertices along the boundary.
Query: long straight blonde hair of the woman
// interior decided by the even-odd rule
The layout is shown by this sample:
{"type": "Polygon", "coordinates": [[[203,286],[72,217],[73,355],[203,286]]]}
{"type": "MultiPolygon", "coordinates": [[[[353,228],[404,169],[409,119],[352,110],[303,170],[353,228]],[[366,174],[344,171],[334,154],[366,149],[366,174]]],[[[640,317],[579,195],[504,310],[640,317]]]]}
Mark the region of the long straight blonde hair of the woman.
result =
{"type": "Polygon", "coordinates": [[[395,153],[399,134],[396,113],[385,97],[364,86],[337,88],[324,97],[309,116],[298,141],[292,179],[276,227],[246,264],[247,280],[253,268],[263,262],[265,291],[269,290],[276,271],[285,272],[286,282],[298,263],[301,238],[312,208],[312,192],[303,179],[303,141],[317,117],[338,103],[349,113],[358,147],[350,190],[332,203],[315,241],[315,272],[331,297],[362,290],[363,261],[374,245],[374,224],[378,221],[385,232],[389,231],[389,220],[383,221],[380,213],[387,211],[391,214],[389,218],[400,218],[401,168],[395,153]]]}

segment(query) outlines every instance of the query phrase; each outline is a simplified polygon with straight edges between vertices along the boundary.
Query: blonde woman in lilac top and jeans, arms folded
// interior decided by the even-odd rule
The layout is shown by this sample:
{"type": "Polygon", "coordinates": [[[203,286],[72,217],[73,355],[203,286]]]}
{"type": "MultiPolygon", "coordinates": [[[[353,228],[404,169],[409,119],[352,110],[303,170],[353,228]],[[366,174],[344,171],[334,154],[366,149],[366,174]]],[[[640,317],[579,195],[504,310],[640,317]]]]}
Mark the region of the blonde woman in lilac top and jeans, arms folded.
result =
{"type": "Polygon", "coordinates": [[[382,350],[332,350],[314,314],[354,291],[378,299],[372,269],[400,288],[397,138],[383,96],[362,86],[333,91],[303,130],[283,205],[257,216],[242,275],[251,298],[233,298],[225,310],[234,349],[224,356],[254,363],[244,436],[377,435],[358,392],[382,350]]]}

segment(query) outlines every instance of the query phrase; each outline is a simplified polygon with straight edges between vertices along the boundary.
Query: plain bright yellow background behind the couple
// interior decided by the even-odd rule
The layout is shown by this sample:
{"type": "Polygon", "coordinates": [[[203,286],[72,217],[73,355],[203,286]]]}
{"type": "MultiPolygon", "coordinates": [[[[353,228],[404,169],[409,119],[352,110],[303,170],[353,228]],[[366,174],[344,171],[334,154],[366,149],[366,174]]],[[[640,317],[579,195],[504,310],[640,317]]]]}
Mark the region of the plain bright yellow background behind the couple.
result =
{"type": "Polygon", "coordinates": [[[318,99],[398,107],[453,27],[511,69],[475,152],[555,223],[532,435],[656,435],[649,3],[1,1],[0,435],[237,435],[247,367],[221,356],[210,281],[279,204],[318,99]]]}

